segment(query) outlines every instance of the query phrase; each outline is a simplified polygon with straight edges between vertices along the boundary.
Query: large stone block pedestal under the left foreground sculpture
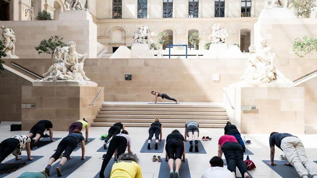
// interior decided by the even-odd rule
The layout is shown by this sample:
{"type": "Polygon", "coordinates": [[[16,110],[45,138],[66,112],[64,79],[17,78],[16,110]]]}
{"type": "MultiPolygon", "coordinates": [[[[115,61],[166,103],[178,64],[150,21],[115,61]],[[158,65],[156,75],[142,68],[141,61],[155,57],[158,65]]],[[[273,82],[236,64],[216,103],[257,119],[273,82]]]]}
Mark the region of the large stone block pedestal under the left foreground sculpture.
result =
{"type": "Polygon", "coordinates": [[[90,106],[101,87],[97,86],[22,86],[22,104],[36,108],[22,108],[22,130],[29,130],[39,120],[53,123],[54,130],[68,131],[77,120],[93,122],[104,102],[104,92],[90,106]]]}

